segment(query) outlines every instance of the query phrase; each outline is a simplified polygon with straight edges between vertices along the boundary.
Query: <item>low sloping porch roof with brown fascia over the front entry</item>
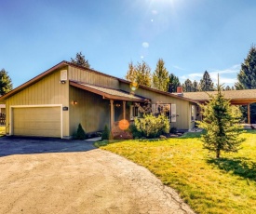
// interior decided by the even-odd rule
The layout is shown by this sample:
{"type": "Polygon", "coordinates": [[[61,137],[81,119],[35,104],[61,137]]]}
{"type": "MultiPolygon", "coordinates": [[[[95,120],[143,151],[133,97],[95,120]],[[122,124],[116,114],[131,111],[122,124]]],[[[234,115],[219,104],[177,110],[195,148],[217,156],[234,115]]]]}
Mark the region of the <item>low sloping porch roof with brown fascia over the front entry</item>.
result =
{"type": "Polygon", "coordinates": [[[141,96],[128,93],[127,91],[90,85],[88,83],[77,82],[74,80],[69,81],[70,86],[78,87],[94,94],[101,95],[103,99],[107,100],[126,100],[126,101],[137,101],[137,102],[148,102],[150,99],[143,98],[141,96]]]}

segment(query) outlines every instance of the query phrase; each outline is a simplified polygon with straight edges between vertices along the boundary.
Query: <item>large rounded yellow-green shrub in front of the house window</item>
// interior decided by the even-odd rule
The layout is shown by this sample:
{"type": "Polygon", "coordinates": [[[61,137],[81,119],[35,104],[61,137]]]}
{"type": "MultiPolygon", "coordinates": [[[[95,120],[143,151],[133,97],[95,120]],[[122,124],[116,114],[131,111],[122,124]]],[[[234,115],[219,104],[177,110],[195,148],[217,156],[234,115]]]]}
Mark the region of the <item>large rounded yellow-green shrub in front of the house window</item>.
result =
{"type": "Polygon", "coordinates": [[[154,116],[153,114],[144,114],[143,118],[135,118],[135,127],[142,136],[146,138],[157,138],[161,134],[168,133],[168,117],[164,114],[154,116]]]}

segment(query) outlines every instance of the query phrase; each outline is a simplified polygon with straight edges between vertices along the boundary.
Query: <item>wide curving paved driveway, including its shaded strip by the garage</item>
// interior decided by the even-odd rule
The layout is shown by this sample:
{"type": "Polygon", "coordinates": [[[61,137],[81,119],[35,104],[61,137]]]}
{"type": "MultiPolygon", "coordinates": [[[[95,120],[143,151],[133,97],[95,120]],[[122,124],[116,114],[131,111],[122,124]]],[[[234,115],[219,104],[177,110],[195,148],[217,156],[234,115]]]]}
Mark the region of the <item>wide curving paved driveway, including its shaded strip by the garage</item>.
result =
{"type": "Polygon", "coordinates": [[[146,168],[91,141],[0,138],[0,213],[194,213],[146,168]]]}

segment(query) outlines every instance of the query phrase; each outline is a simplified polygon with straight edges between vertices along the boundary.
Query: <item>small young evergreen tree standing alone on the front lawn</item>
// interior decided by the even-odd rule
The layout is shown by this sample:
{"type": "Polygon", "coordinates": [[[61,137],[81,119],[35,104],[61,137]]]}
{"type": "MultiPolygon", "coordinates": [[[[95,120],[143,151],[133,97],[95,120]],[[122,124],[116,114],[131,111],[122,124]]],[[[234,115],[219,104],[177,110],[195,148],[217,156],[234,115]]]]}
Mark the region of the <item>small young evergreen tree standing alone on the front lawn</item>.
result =
{"type": "Polygon", "coordinates": [[[240,143],[241,128],[238,125],[240,111],[236,106],[231,106],[229,100],[225,100],[222,94],[222,86],[217,85],[217,95],[209,96],[210,100],[202,105],[203,120],[198,127],[206,130],[202,135],[204,148],[215,152],[216,158],[220,158],[221,152],[237,152],[240,143]]]}

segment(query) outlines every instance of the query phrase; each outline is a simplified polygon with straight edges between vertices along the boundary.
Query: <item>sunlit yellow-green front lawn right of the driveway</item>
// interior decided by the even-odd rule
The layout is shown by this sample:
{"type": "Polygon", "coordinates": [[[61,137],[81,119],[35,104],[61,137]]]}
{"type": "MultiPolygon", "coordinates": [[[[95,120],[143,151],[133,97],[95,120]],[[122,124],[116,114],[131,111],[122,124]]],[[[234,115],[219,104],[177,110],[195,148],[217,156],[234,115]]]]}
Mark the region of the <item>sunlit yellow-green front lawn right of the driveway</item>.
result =
{"type": "Polygon", "coordinates": [[[101,149],[147,167],[174,188],[196,213],[256,213],[256,131],[237,154],[214,155],[202,148],[200,134],[179,139],[97,142],[101,149]]]}

